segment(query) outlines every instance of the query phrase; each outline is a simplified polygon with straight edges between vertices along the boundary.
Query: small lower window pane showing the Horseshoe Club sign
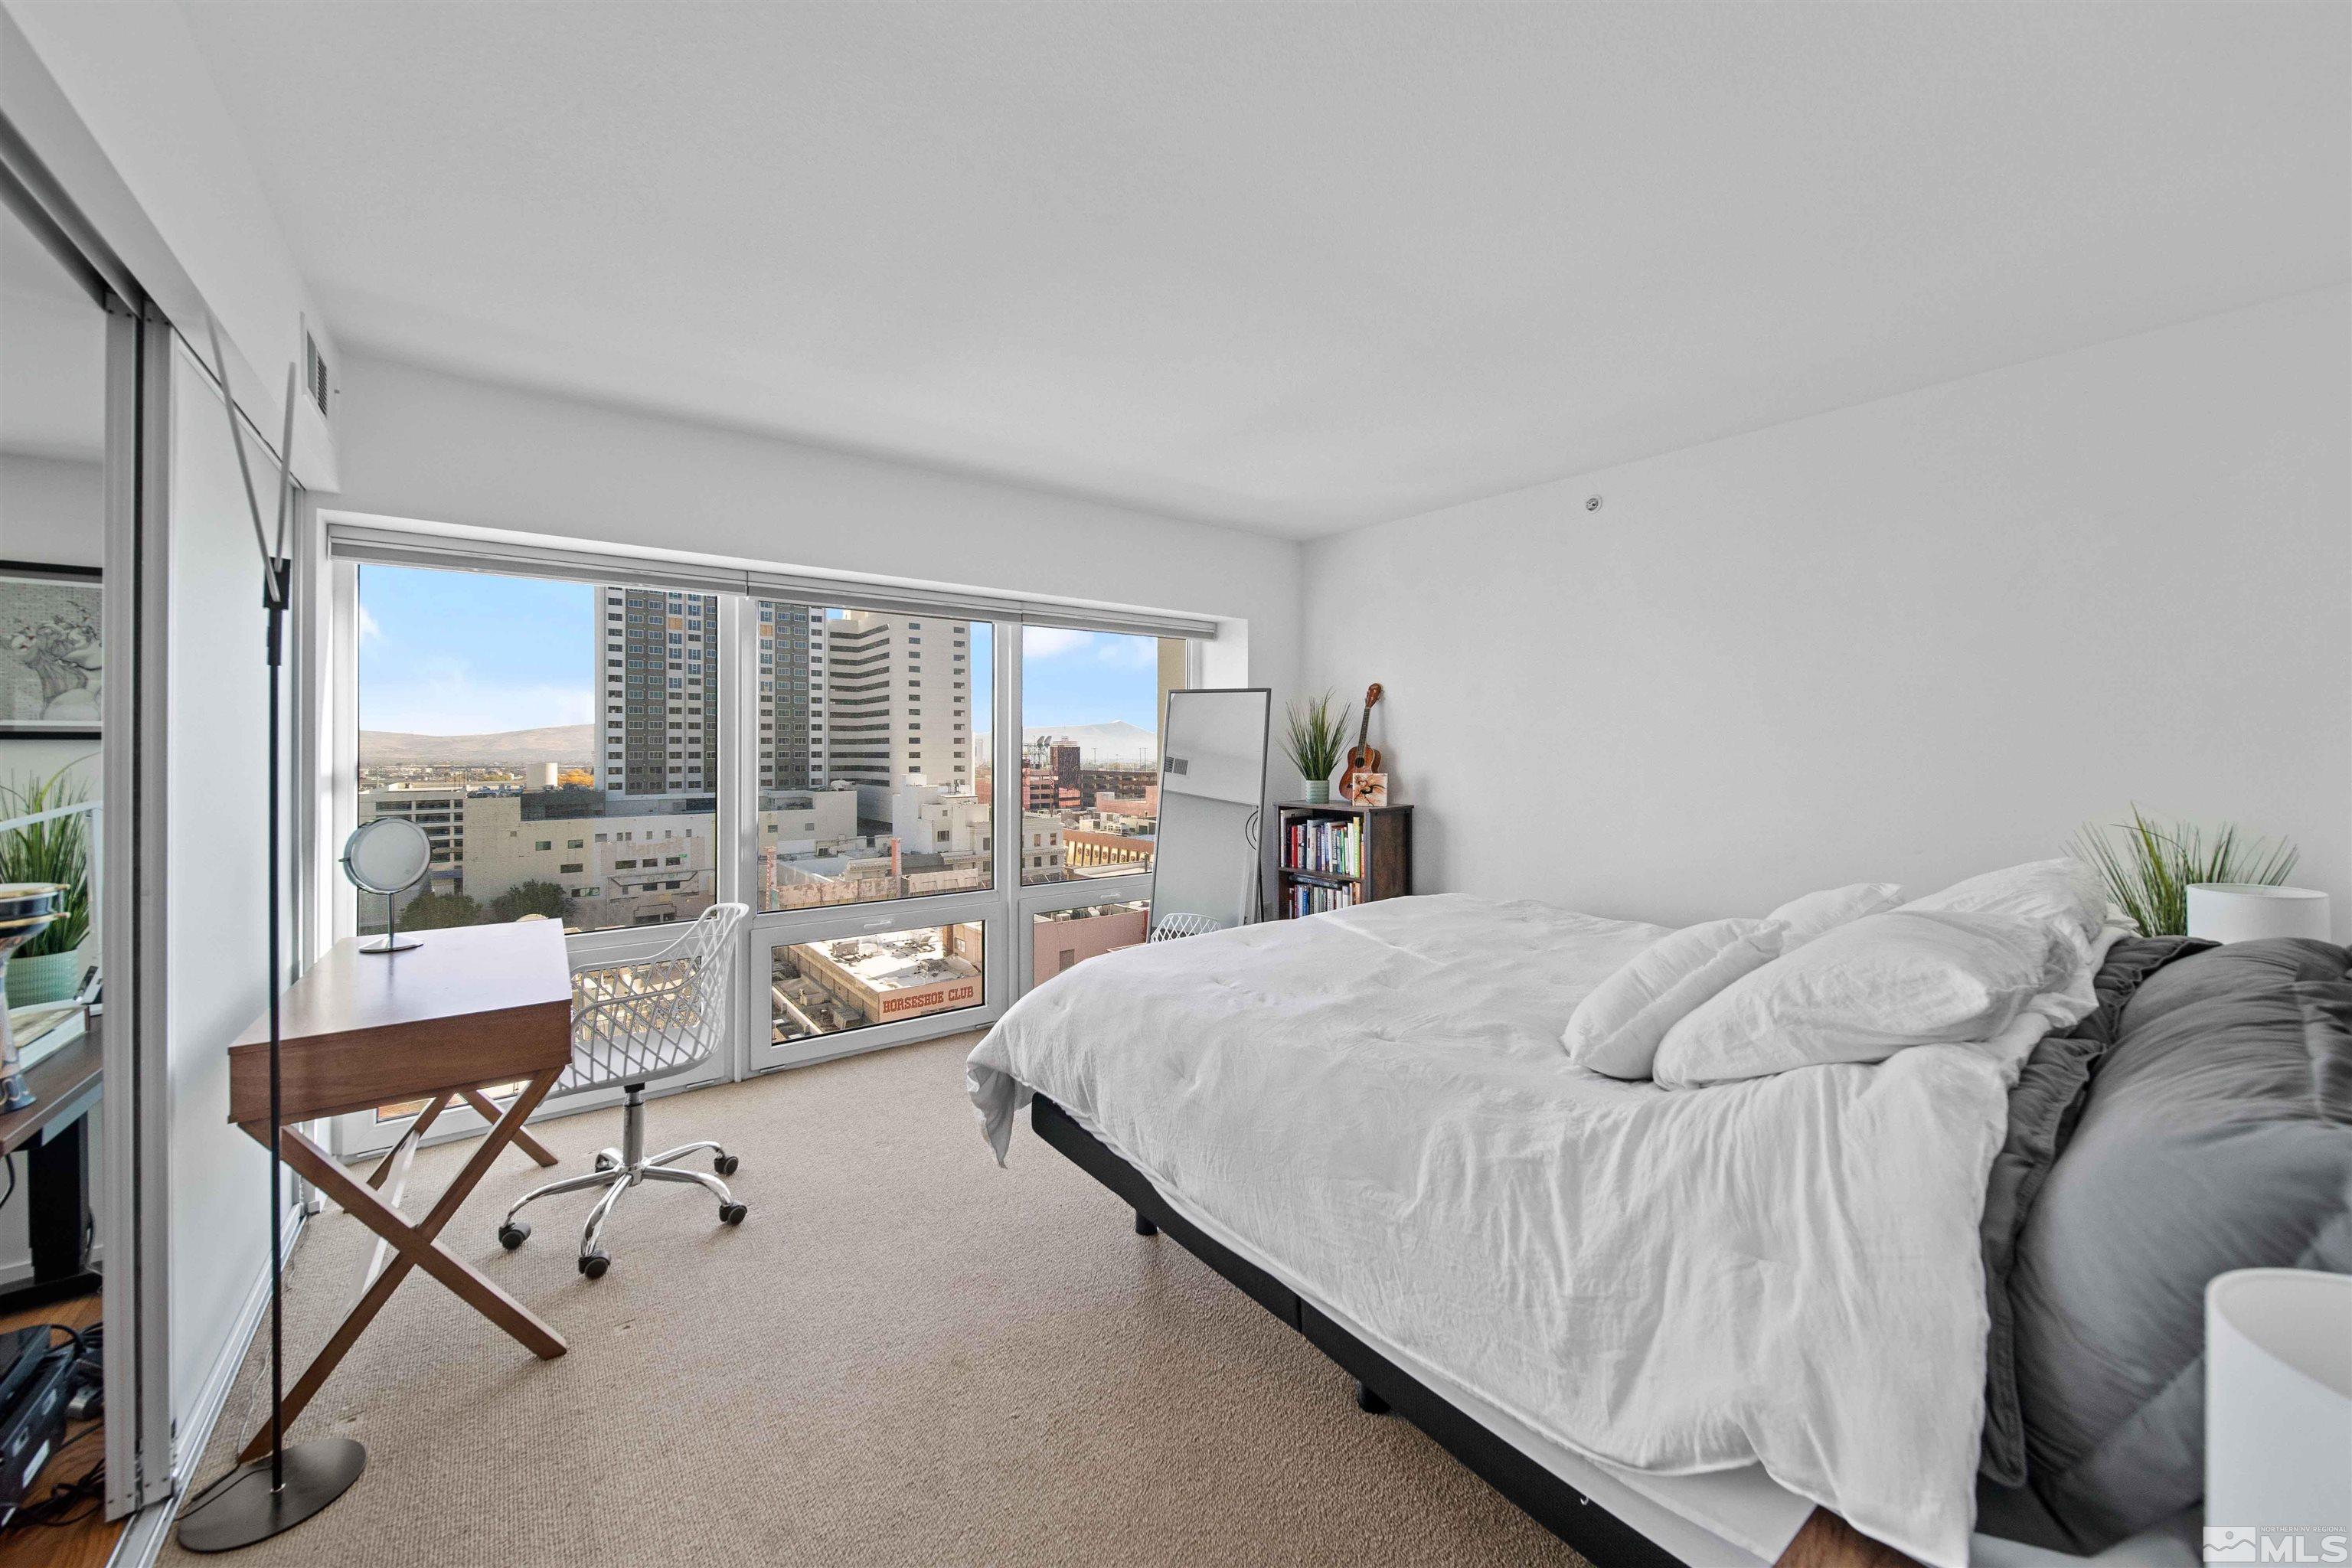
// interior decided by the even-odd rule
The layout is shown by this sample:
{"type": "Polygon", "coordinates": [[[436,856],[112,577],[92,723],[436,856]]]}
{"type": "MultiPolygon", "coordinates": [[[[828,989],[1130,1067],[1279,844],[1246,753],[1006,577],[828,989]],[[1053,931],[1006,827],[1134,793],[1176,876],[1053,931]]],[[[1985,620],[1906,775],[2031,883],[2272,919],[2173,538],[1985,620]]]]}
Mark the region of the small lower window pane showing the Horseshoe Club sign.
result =
{"type": "Polygon", "coordinates": [[[981,922],[769,947],[771,1044],[988,1001],[981,922]]]}

